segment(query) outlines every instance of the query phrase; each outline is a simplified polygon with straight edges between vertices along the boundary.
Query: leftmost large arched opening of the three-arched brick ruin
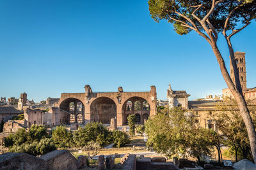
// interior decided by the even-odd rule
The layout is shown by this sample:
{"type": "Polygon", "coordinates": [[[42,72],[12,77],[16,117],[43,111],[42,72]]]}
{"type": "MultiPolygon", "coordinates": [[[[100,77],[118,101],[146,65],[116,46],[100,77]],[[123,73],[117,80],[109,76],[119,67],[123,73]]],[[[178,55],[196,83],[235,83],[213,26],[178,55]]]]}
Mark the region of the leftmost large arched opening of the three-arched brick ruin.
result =
{"type": "Polygon", "coordinates": [[[68,98],[60,104],[59,124],[84,124],[84,105],[76,98],[68,98]],[[80,115],[80,116],[78,116],[80,115]],[[77,119],[79,117],[79,120],[77,119]]]}

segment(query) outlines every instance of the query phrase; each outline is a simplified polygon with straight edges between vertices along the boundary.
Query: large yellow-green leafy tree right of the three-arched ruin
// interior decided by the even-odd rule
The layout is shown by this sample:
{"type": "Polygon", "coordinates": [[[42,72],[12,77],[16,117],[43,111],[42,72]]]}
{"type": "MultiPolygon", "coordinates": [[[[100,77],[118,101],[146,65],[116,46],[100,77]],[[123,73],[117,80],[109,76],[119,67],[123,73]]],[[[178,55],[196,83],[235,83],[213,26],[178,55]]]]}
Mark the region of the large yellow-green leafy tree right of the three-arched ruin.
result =
{"type": "Polygon", "coordinates": [[[208,129],[193,125],[193,117],[180,107],[161,110],[145,124],[147,145],[168,157],[196,157],[211,155],[212,141],[208,129]]]}

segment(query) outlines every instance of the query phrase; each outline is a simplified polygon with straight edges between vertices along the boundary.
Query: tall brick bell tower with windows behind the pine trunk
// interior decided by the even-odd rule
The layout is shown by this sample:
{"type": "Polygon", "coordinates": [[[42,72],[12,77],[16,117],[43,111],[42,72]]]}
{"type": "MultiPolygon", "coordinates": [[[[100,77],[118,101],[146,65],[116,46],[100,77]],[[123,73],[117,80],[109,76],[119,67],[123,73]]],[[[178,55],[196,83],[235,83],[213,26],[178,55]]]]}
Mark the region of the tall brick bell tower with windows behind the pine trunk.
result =
{"type": "MultiPolygon", "coordinates": [[[[246,65],[245,65],[245,53],[244,52],[235,52],[235,60],[237,64],[237,68],[239,71],[239,79],[241,83],[241,88],[243,92],[247,89],[246,87],[246,65]]],[[[234,69],[232,67],[232,63],[230,60],[230,76],[233,82],[235,82],[235,77],[234,77],[234,69]]]]}

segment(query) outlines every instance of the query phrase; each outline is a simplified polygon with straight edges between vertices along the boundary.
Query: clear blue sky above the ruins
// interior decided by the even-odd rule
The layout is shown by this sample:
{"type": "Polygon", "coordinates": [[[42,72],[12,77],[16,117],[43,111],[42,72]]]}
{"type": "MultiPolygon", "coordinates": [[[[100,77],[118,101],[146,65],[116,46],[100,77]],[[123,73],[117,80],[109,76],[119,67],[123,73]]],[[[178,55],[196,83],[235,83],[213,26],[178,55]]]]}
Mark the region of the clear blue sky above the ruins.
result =
{"type": "MultiPolygon", "coordinates": [[[[234,37],[246,52],[248,87],[255,87],[256,24],[234,37]]],[[[219,45],[227,65],[225,41],[219,45]]],[[[179,36],[150,18],[145,0],[0,0],[0,96],[41,101],[61,92],[186,90],[189,99],[227,87],[211,47],[192,32],[179,36]]],[[[229,66],[228,66],[229,70],[229,66]]]]}

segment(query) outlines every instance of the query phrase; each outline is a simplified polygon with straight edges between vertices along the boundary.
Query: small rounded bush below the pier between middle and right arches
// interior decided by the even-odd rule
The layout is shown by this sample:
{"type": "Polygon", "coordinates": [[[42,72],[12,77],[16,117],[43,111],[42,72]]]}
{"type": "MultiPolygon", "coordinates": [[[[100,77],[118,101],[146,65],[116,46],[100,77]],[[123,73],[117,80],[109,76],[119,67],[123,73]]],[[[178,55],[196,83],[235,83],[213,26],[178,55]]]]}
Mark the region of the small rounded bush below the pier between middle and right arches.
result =
{"type": "Polygon", "coordinates": [[[122,131],[113,131],[113,143],[114,147],[120,148],[124,147],[126,144],[130,143],[129,136],[122,131]]]}

